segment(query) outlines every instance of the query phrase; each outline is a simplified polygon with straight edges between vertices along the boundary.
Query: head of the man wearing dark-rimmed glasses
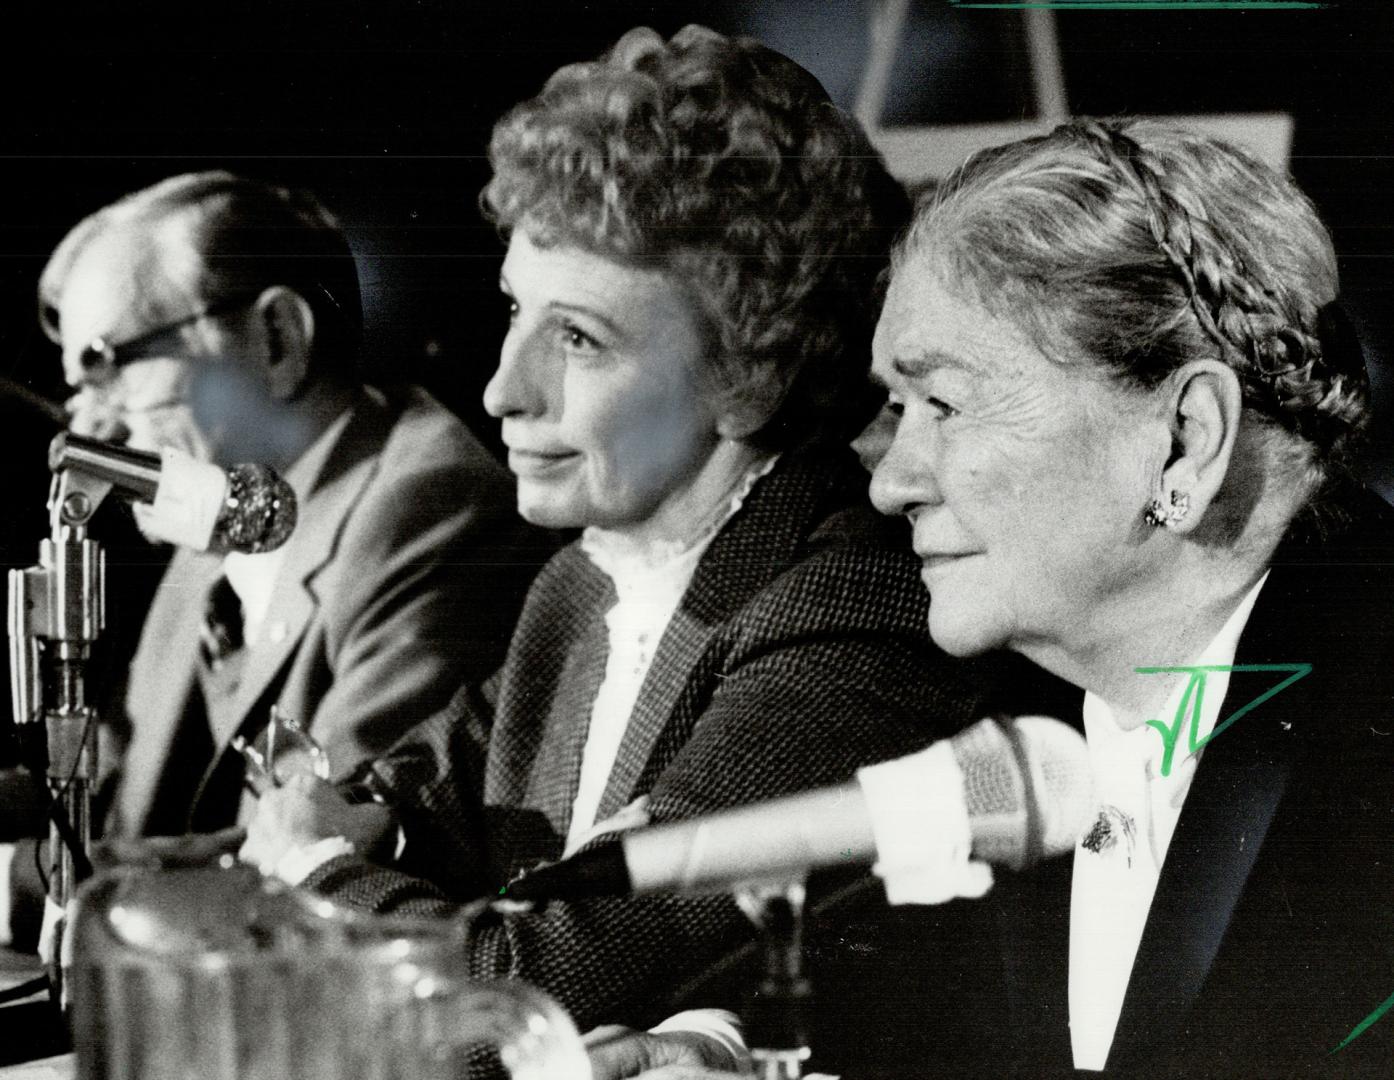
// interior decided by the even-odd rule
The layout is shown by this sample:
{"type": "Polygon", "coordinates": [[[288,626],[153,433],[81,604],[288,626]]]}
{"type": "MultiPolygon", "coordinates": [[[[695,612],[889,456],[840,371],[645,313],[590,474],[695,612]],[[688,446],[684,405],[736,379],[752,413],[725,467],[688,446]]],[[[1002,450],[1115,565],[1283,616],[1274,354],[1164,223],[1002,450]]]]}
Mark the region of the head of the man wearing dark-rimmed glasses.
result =
{"type": "Polygon", "coordinates": [[[308,192],[171,177],[75,226],[39,280],[72,426],[286,465],[357,385],[353,252],[308,192]]]}

